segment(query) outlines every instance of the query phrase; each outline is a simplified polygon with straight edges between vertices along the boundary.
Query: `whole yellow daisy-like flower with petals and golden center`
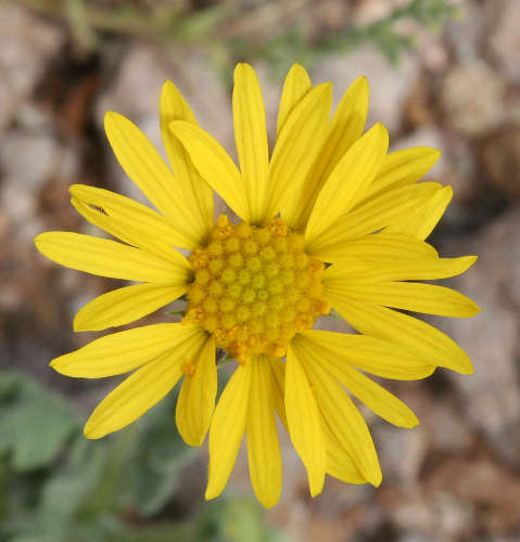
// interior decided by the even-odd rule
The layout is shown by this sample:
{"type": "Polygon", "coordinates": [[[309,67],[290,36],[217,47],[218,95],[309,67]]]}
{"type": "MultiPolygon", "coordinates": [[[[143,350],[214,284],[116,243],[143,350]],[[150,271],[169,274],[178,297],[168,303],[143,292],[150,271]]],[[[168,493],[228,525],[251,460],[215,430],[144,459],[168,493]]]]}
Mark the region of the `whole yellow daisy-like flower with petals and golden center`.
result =
{"type": "Polygon", "coordinates": [[[172,170],[134,124],[106,114],[117,159],[158,212],[73,185],[76,209],[124,243],[66,232],[42,233],[35,243],[69,268],[142,283],[87,304],[76,331],[132,322],[183,294],[188,307],[181,323],[114,333],[51,364],[86,378],[135,371],[94,410],[88,438],[134,422],[183,376],[177,426],[192,446],[210,428],[207,499],[223,491],[246,434],[255,493],[264,505],[276,504],[282,470],[276,413],[307,469],[312,495],[326,474],[378,486],[369,430],[344,388],[388,422],[413,427],[418,421],[408,406],[364,373],[415,379],[436,366],[472,372],[451,338],[393,310],[446,317],[479,310],[453,289],[409,282],[462,273],[477,259],[440,258],[424,242],[452,197],[449,186],[417,183],[440,153],[388,154],[381,124],[363,134],[363,77],[329,119],[331,85],[313,87],[294,65],[270,159],[262,92],[246,64],[236,68],[232,105],[240,169],[170,82],[160,115],[172,170]],[[223,215],[213,223],[212,189],[237,221],[223,215]],[[359,334],[313,331],[331,308],[359,334]],[[238,365],[215,409],[216,347],[238,365]]]}

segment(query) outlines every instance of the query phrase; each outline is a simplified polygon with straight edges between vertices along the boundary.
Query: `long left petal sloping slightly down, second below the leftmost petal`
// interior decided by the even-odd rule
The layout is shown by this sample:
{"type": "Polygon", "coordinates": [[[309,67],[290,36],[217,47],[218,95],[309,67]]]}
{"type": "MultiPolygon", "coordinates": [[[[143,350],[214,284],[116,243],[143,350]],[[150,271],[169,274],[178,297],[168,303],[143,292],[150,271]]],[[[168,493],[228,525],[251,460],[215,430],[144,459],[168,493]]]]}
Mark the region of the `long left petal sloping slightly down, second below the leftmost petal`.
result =
{"type": "Polygon", "coordinates": [[[153,324],[98,338],[51,361],[66,376],[100,378],[128,373],[166,350],[201,343],[205,332],[199,325],[153,324]]]}

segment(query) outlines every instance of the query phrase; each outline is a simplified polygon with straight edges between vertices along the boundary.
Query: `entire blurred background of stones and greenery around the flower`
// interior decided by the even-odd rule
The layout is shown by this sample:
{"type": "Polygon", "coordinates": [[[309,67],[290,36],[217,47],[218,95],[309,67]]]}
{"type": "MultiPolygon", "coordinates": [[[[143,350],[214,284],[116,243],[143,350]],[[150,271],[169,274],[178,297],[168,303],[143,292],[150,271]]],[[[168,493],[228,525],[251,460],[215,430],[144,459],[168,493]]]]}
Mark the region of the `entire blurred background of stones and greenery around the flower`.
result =
{"type": "Polygon", "coordinates": [[[0,3],[0,542],[520,540],[519,23],[518,0],[0,3]],[[205,503],[206,448],[180,441],[175,393],[128,429],[87,441],[81,426],[116,382],[48,366],[96,337],[73,334],[72,319],[116,284],[53,264],[33,237],[98,234],[69,205],[72,183],[141,197],[105,141],[105,109],[160,145],[169,78],[233,153],[238,61],[258,70],[271,128],[293,62],[331,80],[335,103],[367,75],[369,125],[383,121],[394,149],[443,151],[429,178],[455,196],[432,243],[480,257],[449,285],[482,313],[434,320],[475,373],[389,383],[421,424],[398,429],[367,413],[383,468],[377,490],[329,478],[312,500],[283,435],[280,504],[256,503],[243,453],[224,496],[205,503]]]}

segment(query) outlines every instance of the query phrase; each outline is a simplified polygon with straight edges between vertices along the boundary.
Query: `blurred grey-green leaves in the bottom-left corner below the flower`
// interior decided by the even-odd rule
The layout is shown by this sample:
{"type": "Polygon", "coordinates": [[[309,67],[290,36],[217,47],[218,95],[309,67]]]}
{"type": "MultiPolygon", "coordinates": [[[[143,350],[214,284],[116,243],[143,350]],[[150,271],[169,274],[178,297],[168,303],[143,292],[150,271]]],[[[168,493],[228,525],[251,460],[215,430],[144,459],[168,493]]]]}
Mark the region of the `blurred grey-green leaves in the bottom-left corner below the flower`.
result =
{"type": "Polygon", "coordinates": [[[253,501],[167,517],[194,453],[176,430],[176,400],[170,393],[141,422],[89,441],[64,399],[0,372],[0,542],[280,542],[253,501]]]}

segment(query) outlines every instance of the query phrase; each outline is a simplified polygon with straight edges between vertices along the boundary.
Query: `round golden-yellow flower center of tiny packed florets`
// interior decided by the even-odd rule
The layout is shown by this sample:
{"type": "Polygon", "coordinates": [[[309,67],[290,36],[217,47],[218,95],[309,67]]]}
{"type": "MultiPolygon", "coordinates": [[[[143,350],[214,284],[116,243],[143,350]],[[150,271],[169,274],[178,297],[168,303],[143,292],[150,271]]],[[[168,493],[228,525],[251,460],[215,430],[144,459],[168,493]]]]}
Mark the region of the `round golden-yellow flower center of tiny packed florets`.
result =
{"type": "Polygon", "coordinates": [[[186,320],[211,332],[239,363],[256,353],[284,356],[297,332],[330,311],[324,263],[305,254],[303,235],[281,219],[257,228],[221,215],[208,245],[190,261],[195,276],[186,320]]]}

